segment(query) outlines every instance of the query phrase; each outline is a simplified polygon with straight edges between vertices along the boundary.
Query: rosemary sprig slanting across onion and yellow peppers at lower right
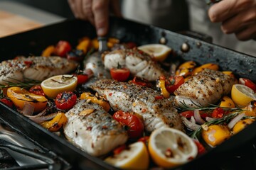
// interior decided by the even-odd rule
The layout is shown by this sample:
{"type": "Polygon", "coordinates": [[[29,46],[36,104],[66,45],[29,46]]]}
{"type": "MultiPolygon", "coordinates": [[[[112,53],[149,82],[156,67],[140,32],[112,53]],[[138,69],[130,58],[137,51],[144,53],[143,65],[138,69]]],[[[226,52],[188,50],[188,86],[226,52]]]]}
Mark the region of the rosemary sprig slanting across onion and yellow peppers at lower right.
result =
{"type": "Polygon", "coordinates": [[[230,119],[235,118],[235,116],[237,116],[241,112],[242,111],[238,111],[238,112],[235,112],[235,113],[230,113],[228,115],[223,116],[223,118],[218,118],[218,119],[214,119],[214,120],[211,120],[209,122],[203,123],[203,125],[201,125],[200,128],[198,128],[198,130],[195,130],[195,131],[191,132],[190,136],[194,139],[198,139],[198,135],[201,134],[201,131],[203,130],[204,126],[228,123],[230,121],[230,119]]]}

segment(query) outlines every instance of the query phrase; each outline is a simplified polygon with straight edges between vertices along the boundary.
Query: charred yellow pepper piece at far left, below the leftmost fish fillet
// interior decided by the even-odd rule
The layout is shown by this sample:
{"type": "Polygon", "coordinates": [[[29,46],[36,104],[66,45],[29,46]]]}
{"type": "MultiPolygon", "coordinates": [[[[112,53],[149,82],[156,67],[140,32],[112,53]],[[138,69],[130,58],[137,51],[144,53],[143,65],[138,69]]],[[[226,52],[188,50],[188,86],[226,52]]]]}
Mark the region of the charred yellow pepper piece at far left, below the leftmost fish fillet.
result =
{"type": "Polygon", "coordinates": [[[10,87],[7,89],[7,96],[14,102],[19,110],[22,110],[26,103],[30,103],[34,107],[34,113],[43,111],[47,106],[48,99],[44,96],[31,94],[21,87],[10,87]]]}

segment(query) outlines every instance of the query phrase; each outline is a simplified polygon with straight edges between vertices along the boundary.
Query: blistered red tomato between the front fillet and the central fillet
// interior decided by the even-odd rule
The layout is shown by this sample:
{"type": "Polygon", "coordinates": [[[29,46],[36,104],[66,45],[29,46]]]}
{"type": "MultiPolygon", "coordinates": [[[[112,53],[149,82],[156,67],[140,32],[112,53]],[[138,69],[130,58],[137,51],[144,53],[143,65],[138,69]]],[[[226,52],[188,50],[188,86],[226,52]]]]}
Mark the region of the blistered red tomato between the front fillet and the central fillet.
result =
{"type": "Polygon", "coordinates": [[[127,126],[127,132],[130,138],[134,139],[142,136],[144,132],[144,125],[142,120],[140,120],[136,115],[117,111],[114,113],[113,118],[122,125],[127,126]]]}

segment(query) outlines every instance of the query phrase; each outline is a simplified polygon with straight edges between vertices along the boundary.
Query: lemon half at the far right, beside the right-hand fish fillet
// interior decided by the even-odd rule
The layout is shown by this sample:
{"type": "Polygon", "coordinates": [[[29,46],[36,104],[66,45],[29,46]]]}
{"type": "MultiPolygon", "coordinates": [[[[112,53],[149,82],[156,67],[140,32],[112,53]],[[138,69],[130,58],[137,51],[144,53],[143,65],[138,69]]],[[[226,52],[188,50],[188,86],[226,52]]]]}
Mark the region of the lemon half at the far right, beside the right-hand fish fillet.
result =
{"type": "Polygon", "coordinates": [[[242,84],[234,84],[231,89],[231,98],[236,105],[244,108],[250,101],[256,100],[255,92],[242,84]]]}

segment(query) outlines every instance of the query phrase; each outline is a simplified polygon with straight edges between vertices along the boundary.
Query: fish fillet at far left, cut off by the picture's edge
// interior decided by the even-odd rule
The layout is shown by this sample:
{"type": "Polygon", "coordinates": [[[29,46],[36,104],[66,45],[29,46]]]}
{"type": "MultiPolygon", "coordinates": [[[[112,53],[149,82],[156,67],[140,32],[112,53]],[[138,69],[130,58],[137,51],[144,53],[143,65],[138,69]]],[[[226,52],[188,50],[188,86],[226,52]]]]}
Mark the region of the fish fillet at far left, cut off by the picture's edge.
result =
{"type": "Polygon", "coordinates": [[[23,79],[43,81],[58,74],[68,74],[78,67],[78,63],[63,57],[16,57],[0,63],[0,84],[23,79]]]}

